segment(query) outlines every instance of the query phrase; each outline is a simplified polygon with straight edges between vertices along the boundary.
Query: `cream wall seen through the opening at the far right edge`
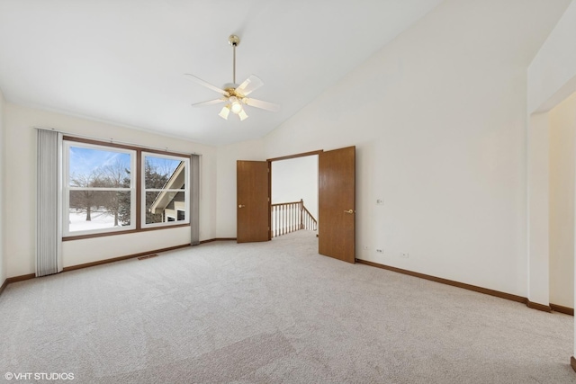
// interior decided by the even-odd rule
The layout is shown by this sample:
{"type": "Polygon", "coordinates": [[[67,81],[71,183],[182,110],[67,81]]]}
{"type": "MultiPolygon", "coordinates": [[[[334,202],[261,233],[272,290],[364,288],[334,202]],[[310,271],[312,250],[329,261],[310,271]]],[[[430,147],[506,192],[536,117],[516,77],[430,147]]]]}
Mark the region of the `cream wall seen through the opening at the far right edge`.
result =
{"type": "Polygon", "coordinates": [[[574,303],[576,93],[550,112],[550,302],[574,303]]]}

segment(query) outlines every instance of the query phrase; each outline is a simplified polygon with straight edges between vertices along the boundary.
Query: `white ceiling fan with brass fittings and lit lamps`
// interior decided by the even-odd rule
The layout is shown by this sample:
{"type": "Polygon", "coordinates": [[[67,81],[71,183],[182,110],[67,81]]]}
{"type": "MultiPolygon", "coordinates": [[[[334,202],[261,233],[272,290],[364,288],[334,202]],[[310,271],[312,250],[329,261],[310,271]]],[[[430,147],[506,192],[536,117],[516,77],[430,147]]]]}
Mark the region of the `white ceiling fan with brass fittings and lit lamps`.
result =
{"type": "Polygon", "coordinates": [[[222,119],[228,120],[228,115],[230,112],[237,114],[240,121],[247,119],[248,115],[244,111],[244,105],[250,107],[261,108],[266,111],[278,111],[279,105],[275,103],[263,102],[262,100],[248,98],[247,95],[256,91],[259,87],[264,85],[262,80],[257,76],[251,75],[240,85],[236,84],[236,47],[240,43],[240,38],[236,35],[230,35],[228,38],[229,44],[234,49],[234,58],[232,62],[232,83],[225,84],[222,88],[205,82],[200,77],[193,76],[191,74],[184,74],[187,78],[192,80],[199,85],[204,85],[206,88],[210,88],[212,91],[218,92],[222,95],[219,99],[209,100],[208,102],[194,103],[193,107],[200,107],[204,105],[212,105],[218,103],[226,103],[219,115],[222,119]]]}

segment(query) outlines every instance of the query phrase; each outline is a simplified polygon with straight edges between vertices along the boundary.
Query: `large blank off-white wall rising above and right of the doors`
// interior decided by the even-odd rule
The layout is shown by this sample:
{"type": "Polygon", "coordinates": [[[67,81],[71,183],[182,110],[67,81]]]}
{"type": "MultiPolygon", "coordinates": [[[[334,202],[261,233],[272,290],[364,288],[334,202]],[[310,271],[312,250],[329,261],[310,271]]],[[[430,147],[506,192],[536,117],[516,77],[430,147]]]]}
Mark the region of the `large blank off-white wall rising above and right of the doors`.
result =
{"type": "Polygon", "coordinates": [[[526,296],[526,71],[563,12],[549,5],[440,4],[266,156],[356,145],[358,258],[526,296]]]}

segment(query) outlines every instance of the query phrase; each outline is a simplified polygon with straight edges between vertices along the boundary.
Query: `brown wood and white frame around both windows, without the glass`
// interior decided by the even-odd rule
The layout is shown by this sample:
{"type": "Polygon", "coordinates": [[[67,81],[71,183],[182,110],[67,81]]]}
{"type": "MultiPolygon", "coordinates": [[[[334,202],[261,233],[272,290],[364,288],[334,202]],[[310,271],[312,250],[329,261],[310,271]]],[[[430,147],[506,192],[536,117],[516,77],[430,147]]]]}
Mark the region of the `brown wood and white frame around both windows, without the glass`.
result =
{"type": "MultiPolygon", "coordinates": [[[[79,138],[76,136],[68,136],[68,135],[64,135],[62,138],[62,142],[63,142],[63,148],[67,145],[67,142],[73,142],[73,143],[83,143],[83,144],[88,144],[88,145],[94,145],[96,147],[103,147],[103,148],[119,148],[121,149],[121,151],[123,150],[132,150],[135,152],[136,156],[135,156],[135,172],[132,175],[133,178],[135,178],[135,183],[132,184],[133,186],[135,185],[136,188],[136,201],[135,204],[130,205],[130,227],[126,226],[126,227],[120,227],[120,228],[113,228],[113,230],[108,230],[110,228],[104,228],[104,230],[102,231],[90,231],[88,233],[88,231],[85,231],[83,233],[80,233],[79,231],[75,231],[72,232],[71,234],[65,234],[64,231],[62,233],[62,241],[72,241],[72,240],[81,240],[81,239],[85,239],[85,238],[94,238],[94,237],[108,237],[108,236],[116,236],[116,235],[125,235],[125,234],[132,234],[132,233],[139,233],[139,232],[145,232],[145,231],[149,231],[149,230],[161,230],[161,229],[167,229],[167,228],[178,228],[178,227],[190,227],[191,226],[191,217],[190,215],[192,214],[192,210],[191,210],[191,203],[192,201],[190,201],[191,199],[191,186],[190,186],[190,180],[191,180],[191,176],[190,176],[190,166],[192,165],[191,163],[191,156],[187,156],[187,154],[183,154],[183,153],[178,153],[178,152],[170,152],[167,150],[159,150],[159,149],[153,149],[153,148],[149,148],[149,147],[138,147],[138,146],[134,146],[134,145],[127,145],[127,144],[117,144],[117,143],[113,143],[113,142],[106,142],[106,141],[101,141],[101,140],[96,140],[96,139],[92,139],[92,138],[79,138]],[[186,196],[186,213],[187,213],[187,219],[186,222],[182,222],[182,221],[175,221],[175,222],[171,222],[171,223],[159,223],[159,226],[150,226],[148,225],[146,228],[142,227],[142,211],[143,209],[141,208],[143,205],[146,205],[146,199],[142,199],[142,190],[143,190],[143,186],[142,184],[144,183],[143,179],[144,179],[144,168],[141,167],[142,164],[142,154],[146,152],[148,154],[152,154],[152,155],[160,155],[160,156],[175,156],[177,158],[182,158],[182,159],[186,159],[187,163],[186,165],[188,166],[186,172],[185,172],[185,177],[186,177],[186,191],[188,193],[188,195],[186,196]],[[135,210],[134,213],[131,213],[131,210],[135,210]],[[134,220],[132,221],[131,218],[134,218],[134,220]],[[132,224],[133,223],[133,224],[132,224]],[[163,225],[166,224],[166,225],[163,225]],[[133,226],[133,227],[132,227],[133,226]]],[[[72,146],[75,146],[74,144],[71,144],[72,146]]],[[[66,149],[63,149],[63,152],[66,153],[66,149]]],[[[69,156],[69,154],[63,154],[64,156],[64,160],[66,160],[67,156],[69,156]]],[[[64,212],[64,214],[67,214],[67,209],[69,209],[68,205],[69,205],[69,201],[67,201],[67,199],[69,199],[69,192],[66,195],[66,183],[68,183],[69,180],[69,164],[65,164],[65,161],[62,162],[62,211],[64,212]]],[[[200,180],[197,181],[197,183],[200,183],[200,180]]],[[[144,207],[144,210],[146,209],[146,207],[144,207]]],[[[69,213],[68,213],[69,215],[69,213]]],[[[69,216],[65,216],[69,217],[69,216]]],[[[64,229],[65,224],[62,223],[62,229],[64,229]]]]}

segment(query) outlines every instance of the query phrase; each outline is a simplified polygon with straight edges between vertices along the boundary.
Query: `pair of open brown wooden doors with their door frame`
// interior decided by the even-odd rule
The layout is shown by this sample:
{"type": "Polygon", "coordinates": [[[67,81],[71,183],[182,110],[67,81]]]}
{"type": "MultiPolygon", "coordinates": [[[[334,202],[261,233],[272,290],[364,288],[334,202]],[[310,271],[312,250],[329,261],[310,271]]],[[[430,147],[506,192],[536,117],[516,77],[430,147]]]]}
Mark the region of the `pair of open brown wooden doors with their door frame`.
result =
{"type": "Polygon", "coordinates": [[[272,239],[272,163],[311,155],[318,156],[319,253],[356,263],[355,146],[266,161],[237,160],[237,242],[272,239]]]}

